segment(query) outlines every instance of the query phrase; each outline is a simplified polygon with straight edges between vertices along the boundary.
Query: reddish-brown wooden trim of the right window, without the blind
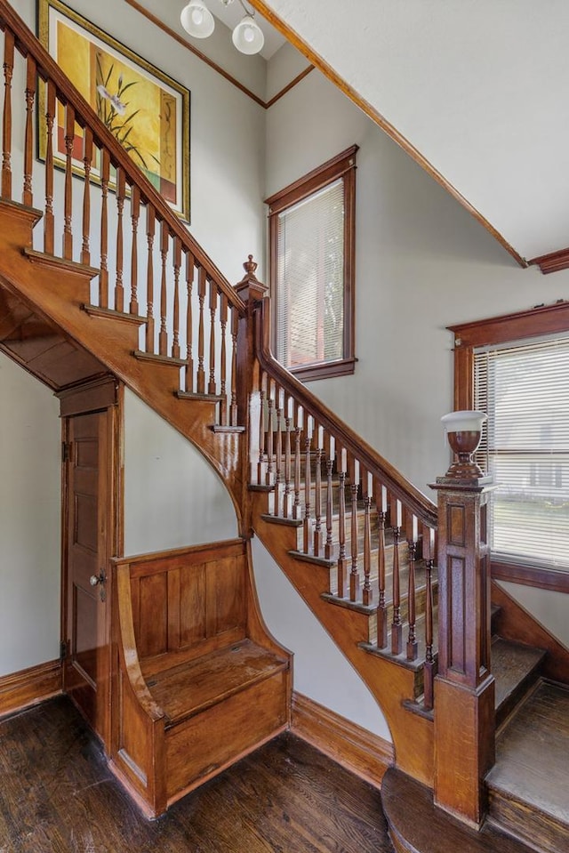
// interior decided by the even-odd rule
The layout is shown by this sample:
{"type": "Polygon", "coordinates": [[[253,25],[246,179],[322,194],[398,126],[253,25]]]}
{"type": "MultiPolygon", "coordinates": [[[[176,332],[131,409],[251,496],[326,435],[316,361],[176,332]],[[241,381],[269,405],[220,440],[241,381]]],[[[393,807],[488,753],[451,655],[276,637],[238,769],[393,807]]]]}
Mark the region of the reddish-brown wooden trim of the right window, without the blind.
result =
{"type": "MultiPolygon", "coordinates": [[[[553,305],[447,326],[447,329],[454,335],[454,408],[457,411],[471,409],[474,406],[474,350],[544,334],[569,332],[569,302],[560,300],[553,305]]],[[[569,592],[569,573],[555,568],[528,566],[514,560],[493,560],[492,575],[495,580],[569,592]]]]}

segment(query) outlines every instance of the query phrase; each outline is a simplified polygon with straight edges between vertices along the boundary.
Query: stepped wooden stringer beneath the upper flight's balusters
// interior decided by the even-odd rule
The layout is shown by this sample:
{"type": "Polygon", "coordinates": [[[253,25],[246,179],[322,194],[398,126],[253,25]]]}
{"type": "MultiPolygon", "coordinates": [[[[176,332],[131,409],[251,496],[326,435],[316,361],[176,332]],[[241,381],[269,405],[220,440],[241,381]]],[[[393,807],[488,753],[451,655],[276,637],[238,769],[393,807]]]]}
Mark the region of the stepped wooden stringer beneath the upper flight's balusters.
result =
{"type": "MultiPolygon", "coordinates": [[[[36,253],[27,257],[24,252],[31,244],[29,232],[25,237],[27,217],[20,213],[14,221],[17,207],[0,205],[2,286],[32,309],[39,310],[69,338],[92,353],[204,455],[228,488],[241,527],[243,433],[214,431],[215,407],[211,402],[176,398],[180,382],[175,365],[148,364],[133,358],[138,329],[130,324],[126,327],[112,317],[92,318],[83,310],[84,304],[89,302],[91,268],[80,264],[71,268],[64,263],[58,267],[57,259],[52,257],[44,264],[36,253]]],[[[28,214],[28,228],[32,213],[28,214]]]]}

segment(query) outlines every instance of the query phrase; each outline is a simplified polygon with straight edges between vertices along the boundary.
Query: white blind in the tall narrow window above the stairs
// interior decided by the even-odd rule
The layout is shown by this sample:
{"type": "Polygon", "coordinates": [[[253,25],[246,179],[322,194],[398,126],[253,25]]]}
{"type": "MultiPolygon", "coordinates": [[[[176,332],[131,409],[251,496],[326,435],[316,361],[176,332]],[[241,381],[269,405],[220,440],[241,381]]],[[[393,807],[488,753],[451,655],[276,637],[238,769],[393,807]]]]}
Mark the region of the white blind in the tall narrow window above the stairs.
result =
{"type": "Polygon", "coordinates": [[[295,367],[343,358],[344,181],[278,214],[276,358],[295,367]]]}

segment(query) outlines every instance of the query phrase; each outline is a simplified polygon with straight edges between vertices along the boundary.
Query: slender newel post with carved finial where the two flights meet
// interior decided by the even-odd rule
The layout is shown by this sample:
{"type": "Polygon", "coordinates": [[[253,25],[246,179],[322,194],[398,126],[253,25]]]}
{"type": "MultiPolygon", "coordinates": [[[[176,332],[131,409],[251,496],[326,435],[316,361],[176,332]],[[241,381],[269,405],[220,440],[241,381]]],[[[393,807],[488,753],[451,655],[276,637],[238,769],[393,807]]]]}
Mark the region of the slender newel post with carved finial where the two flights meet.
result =
{"type": "Polygon", "coordinates": [[[257,263],[252,260],[252,254],[244,262],[243,267],[245,270],[244,277],[235,286],[236,293],[244,301],[246,308],[244,315],[239,317],[237,328],[236,396],[238,422],[245,426],[241,464],[244,529],[241,531],[241,535],[250,536],[252,535],[252,524],[248,484],[251,478],[251,460],[256,460],[259,455],[259,431],[256,429],[256,424],[259,422],[260,416],[259,363],[255,351],[255,314],[265,298],[268,288],[255,275],[257,263]]]}

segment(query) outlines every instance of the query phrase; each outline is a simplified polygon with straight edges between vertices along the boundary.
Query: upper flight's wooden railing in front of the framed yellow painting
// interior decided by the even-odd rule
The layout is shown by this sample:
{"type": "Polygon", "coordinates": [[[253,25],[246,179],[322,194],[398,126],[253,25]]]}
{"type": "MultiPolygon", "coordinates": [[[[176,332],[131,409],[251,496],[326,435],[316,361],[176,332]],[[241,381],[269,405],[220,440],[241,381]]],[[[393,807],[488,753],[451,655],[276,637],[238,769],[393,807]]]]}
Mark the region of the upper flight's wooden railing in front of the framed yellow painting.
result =
{"type": "Polygon", "coordinates": [[[4,3],[0,26],[2,199],[39,208],[34,248],[94,268],[92,305],[140,318],[140,350],[174,359],[180,390],[236,426],[243,302],[4,3]]]}

